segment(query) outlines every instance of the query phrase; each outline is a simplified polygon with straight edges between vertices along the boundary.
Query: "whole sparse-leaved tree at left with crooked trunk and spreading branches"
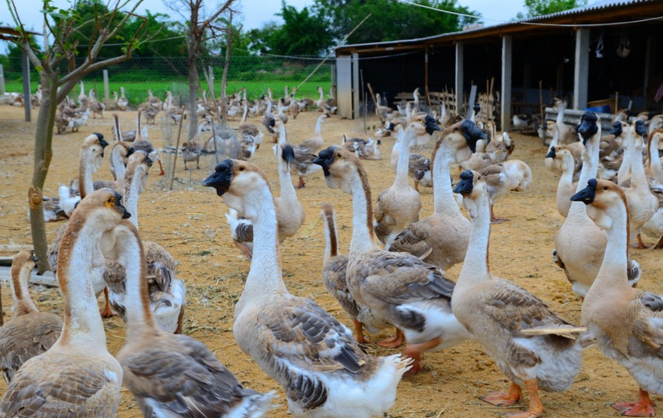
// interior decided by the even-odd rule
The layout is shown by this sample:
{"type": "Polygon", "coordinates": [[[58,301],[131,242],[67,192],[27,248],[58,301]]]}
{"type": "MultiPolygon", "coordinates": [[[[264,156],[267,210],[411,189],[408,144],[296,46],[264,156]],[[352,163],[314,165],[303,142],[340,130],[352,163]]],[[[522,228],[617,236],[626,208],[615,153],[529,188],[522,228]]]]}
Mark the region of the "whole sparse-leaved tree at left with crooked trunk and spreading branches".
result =
{"type": "Polygon", "coordinates": [[[143,26],[139,26],[134,33],[124,34],[126,38],[119,55],[97,61],[102,46],[108,40],[116,39],[119,30],[133,15],[141,1],[132,2],[133,8],[129,13],[121,12],[121,8],[130,3],[128,0],[125,3],[120,3],[117,0],[110,10],[101,3],[94,3],[94,14],[89,19],[84,19],[76,10],[76,1],[74,1],[71,9],[59,9],[51,6],[50,0],[43,0],[41,10],[44,15],[43,51],[38,51],[30,42],[30,37],[18,15],[15,0],[8,0],[15,27],[21,33],[12,42],[21,46],[30,62],[39,70],[42,86],[42,104],[39,108],[35,126],[33,178],[28,190],[33,246],[39,258],[37,269],[40,273],[49,269],[46,260],[48,242],[46,241],[46,226],[44,225],[44,210],[42,208],[42,189],[53,156],[51,143],[53,140],[55,108],[85,75],[103,69],[105,66],[129,60],[132,51],[149,39],[143,26]],[[89,37],[85,39],[84,44],[80,39],[75,39],[79,28],[89,29],[87,32],[89,37]],[[83,45],[86,45],[86,47],[78,48],[83,45]],[[85,55],[80,53],[82,50],[85,51],[85,55]],[[80,64],[76,63],[77,55],[85,57],[80,64]],[[63,71],[62,75],[60,73],[61,64],[67,66],[67,70],[63,71]]]}

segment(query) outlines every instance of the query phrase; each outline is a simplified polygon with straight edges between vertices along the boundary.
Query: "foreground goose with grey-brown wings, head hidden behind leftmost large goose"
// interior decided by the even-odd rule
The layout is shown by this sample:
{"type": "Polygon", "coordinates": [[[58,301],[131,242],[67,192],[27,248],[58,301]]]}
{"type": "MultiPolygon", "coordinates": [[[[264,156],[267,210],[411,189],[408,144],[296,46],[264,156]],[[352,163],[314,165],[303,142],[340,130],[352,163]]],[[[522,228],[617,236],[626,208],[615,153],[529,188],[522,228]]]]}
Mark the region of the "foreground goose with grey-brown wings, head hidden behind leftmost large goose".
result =
{"type": "Polygon", "coordinates": [[[242,387],[203,343],[164,332],[148,304],[145,251],[129,221],[115,228],[126,270],[126,344],[117,354],[123,384],[145,417],[262,417],[274,392],[242,387]],[[160,364],[154,367],[155,362],[160,364]]]}

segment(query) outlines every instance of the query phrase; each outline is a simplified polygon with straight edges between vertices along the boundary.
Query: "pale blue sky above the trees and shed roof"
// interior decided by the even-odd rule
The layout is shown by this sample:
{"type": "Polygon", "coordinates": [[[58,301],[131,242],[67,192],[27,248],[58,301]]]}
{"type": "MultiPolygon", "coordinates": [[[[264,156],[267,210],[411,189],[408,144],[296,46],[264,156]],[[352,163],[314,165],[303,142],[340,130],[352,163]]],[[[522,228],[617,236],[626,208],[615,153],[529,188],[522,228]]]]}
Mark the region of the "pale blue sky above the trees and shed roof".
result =
{"type": "MultiPolygon", "coordinates": [[[[214,3],[214,1],[209,0],[205,0],[205,2],[214,3]]],[[[21,21],[26,25],[26,28],[41,32],[42,15],[39,10],[42,8],[42,0],[15,0],[15,3],[21,21]]],[[[71,0],[53,0],[51,3],[59,8],[67,8],[71,4],[71,0]]],[[[286,0],[286,4],[294,6],[297,10],[301,10],[304,6],[309,6],[312,3],[313,0],[286,0]]],[[[484,24],[488,26],[515,17],[517,12],[523,10],[524,0],[458,0],[458,3],[467,6],[470,10],[480,12],[483,15],[484,24]]],[[[281,1],[279,0],[239,0],[236,8],[242,12],[241,18],[245,29],[260,28],[268,21],[281,21],[280,17],[275,16],[281,10],[281,1]]],[[[164,6],[162,0],[144,0],[138,12],[141,13],[144,10],[173,15],[173,12],[164,6]]],[[[430,12],[437,13],[432,10],[430,12]]],[[[176,17],[176,15],[173,17],[176,17]]],[[[0,24],[14,26],[5,1],[0,2],[0,24]]],[[[5,44],[5,42],[2,44],[5,44]]],[[[2,44],[0,44],[0,51],[4,47],[2,44]]]]}

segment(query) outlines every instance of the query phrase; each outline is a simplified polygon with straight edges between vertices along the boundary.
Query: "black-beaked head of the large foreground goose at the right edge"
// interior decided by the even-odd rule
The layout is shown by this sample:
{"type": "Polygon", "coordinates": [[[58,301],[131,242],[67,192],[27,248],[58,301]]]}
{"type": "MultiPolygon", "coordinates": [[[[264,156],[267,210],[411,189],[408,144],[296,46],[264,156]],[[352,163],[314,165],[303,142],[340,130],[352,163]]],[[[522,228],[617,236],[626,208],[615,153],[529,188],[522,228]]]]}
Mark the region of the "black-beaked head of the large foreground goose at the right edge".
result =
{"type": "MultiPolygon", "coordinates": [[[[628,219],[626,194],[612,181],[589,179],[587,187],[571,196],[571,201],[585,203],[587,216],[599,228],[612,228],[612,220],[619,215],[619,210],[623,210],[622,208],[626,208],[626,219],[628,219]]],[[[628,221],[626,224],[628,228],[628,221]]],[[[628,233],[626,236],[628,237],[628,233]]]]}

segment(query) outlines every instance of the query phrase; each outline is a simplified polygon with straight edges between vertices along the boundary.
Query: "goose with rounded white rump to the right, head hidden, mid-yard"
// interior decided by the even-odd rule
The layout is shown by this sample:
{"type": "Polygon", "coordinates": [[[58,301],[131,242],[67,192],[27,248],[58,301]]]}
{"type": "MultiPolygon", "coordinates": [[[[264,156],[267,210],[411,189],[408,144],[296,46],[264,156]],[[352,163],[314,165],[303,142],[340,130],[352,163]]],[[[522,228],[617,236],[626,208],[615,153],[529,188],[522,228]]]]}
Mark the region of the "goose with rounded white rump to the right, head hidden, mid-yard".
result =
{"type": "Polygon", "coordinates": [[[488,193],[490,194],[490,221],[499,223],[508,221],[506,218],[495,216],[492,207],[497,199],[503,197],[507,192],[522,192],[527,190],[532,183],[532,170],[520,160],[509,160],[503,163],[489,165],[480,171],[485,178],[488,193]]]}

